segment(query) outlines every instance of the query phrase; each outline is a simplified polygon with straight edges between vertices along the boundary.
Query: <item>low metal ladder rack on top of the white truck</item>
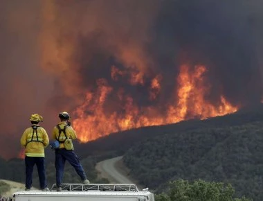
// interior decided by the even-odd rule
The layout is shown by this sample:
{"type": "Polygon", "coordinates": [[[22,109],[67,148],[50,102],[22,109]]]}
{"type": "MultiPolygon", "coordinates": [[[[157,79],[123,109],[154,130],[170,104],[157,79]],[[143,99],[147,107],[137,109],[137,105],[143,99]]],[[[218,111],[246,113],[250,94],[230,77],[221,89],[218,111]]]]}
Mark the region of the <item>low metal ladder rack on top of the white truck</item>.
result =
{"type": "MultiPolygon", "coordinates": [[[[138,192],[135,184],[62,184],[62,191],[131,191],[138,192]]],[[[53,184],[51,191],[56,191],[53,184]]]]}

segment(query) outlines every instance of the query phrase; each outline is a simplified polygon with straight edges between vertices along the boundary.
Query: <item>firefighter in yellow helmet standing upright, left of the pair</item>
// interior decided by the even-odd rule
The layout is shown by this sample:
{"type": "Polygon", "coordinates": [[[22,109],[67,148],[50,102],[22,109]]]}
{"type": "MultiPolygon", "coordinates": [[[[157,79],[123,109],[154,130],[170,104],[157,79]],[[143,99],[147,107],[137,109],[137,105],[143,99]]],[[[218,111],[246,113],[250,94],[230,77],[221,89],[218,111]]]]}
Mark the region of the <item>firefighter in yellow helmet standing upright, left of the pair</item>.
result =
{"type": "Polygon", "coordinates": [[[39,122],[43,121],[42,116],[32,114],[29,120],[32,125],[26,128],[20,140],[21,146],[26,148],[26,191],[30,191],[32,187],[32,175],[35,164],[37,165],[40,189],[42,189],[42,191],[49,191],[46,184],[44,152],[44,148],[46,148],[49,143],[48,134],[44,128],[39,126],[39,122]]]}

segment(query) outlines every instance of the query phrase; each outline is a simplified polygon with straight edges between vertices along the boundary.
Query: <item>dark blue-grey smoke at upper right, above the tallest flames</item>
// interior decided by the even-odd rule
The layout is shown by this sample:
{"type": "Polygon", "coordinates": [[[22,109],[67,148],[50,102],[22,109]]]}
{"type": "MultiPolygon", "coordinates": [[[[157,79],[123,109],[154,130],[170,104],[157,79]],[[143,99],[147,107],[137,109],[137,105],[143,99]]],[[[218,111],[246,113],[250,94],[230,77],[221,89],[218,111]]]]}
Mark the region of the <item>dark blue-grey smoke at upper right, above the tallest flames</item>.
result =
{"type": "MultiPolygon", "coordinates": [[[[212,97],[219,89],[231,103],[247,105],[262,98],[261,76],[255,35],[262,18],[255,8],[260,1],[167,1],[156,30],[173,49],[165,56],[178,55],[176,62],[204,64],[210,69],[212,97]],[[253,3],[252,3],[253,2],[253,3]],[[181,53],[183,51],[183,53],[181,53]]],[[[160,52],[156,55],[161,55],[160,52]]],[[[162,59],[162,58],[161,58],[162,59]]]]}

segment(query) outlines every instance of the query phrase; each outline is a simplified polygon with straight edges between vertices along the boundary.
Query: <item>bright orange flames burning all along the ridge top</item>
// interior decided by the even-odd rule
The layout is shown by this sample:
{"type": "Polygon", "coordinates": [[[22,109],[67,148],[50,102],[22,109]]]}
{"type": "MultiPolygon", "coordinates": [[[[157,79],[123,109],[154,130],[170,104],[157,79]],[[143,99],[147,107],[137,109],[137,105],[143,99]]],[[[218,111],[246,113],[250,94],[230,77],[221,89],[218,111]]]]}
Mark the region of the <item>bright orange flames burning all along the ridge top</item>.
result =
{"type": "MultiPolygon", "coordinates": [[[[117,80],[127,72],[111,68],[111,78],[117,80]]],[[[192,71],[187,65],[181,67],[178,78],[178,89],[173,97],[175,104],[167,105],[165,114],[160,114],[157,107],[139,107],[134,103],[134,98],[118,90],[118,101],[124,101],[120,114],[107,105],[107,98],[113,88],[107,80],[100,79],[97,82],[97,91],[88,91],[84,103],[75,110],[77,119],[73,121],[80,141],[87,142],[98,137],[105,136],[112,132],[140,128],[149,125],[163,125],[179,121],[199,118],[206,119],[212,116],[222,116],[237,111],[224,96],[221,96],[219,103],[213,105],[206,100],[210,87],[205,82],[206,67],[196,66],[192,71]]],[[[154,100],[161,92],[161,76],[156,76],[149,89],[149,100],[154,100]]],[[[132,82],[130,83],[132,85],[132,82]]],[[[117,103],[118,104],[118,103],[117,103]]]]}

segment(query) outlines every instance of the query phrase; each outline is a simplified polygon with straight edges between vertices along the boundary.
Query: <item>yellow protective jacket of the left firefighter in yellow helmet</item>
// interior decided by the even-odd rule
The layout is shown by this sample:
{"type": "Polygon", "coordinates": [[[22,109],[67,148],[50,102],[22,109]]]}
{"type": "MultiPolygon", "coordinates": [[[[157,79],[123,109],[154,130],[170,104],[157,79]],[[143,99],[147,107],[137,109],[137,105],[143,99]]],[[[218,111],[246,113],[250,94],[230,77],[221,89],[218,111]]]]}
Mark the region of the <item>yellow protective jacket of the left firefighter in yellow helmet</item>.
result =
{"type": "Polygon", "coordinates": [[[46,148],[49,143],[48,134],[44,128],[33,124],[32,127],[27,128],[24,131],[20,139],[20,143],[21,146],[26,148],[25,155],[27,157],[44,157],[44,148],[46,148]],[[35,130],[35,132],[33,130],[33,126],[37,126],[37,130],[35,130]]]}

